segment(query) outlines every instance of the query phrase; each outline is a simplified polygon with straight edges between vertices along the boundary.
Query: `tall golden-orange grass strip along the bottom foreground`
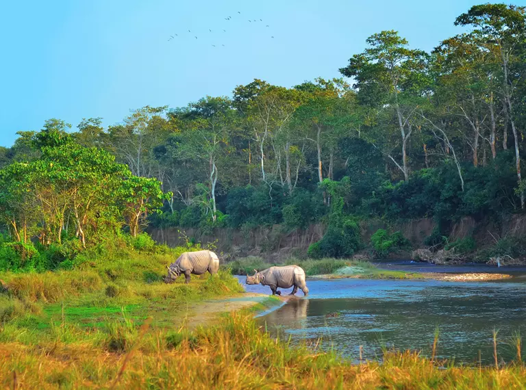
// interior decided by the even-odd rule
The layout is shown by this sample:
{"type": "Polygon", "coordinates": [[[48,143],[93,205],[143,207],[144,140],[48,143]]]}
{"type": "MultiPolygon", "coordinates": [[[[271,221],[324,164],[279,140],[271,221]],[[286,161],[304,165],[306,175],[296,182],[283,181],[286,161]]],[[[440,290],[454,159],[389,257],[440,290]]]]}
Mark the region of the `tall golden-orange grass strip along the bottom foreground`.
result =
{"type": "Polygon", "coordinates": [[[523,389],[526,382],[520,363],[440,369],[414,352],[353,365],[276,341],[240,313],[192,333],[129,320],[104,330],[56,326],[48,338],[2,340],[0,354],[0,383],[9,389],[523,389]]]}

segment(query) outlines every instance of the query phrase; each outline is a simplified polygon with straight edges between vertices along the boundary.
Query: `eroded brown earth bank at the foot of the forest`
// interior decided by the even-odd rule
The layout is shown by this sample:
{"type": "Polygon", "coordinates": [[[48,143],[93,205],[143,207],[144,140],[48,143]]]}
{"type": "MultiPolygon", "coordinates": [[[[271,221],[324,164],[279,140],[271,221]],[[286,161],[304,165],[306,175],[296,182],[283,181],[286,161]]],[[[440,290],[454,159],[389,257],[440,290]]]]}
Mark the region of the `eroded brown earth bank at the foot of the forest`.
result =
{"type": "MultiPolygon", "coordinates": [[[[392,232],[400,231],[404,237],[409,239],[414,249],[427,248],[425,240],[434,232],[436,227],[436,222],[431,218],[401,223],[388,223],[384,220],[372,218],[360,222],[362,242],[365,245],[371,242],[371,235],[378,229],[386,229],[392,232]]],[[[326,230],[327,226],[321,223],[311,224],[307,229],[292,231],[279,224],[258,226],[253,229],[216,228],[212,231],[194,228],[147,229],[151,237],[160,244],[181,246],[186,244],[187,239],[192,239],[194,242],[201,242],[203,245],[214,244],[217,252],[223,252],[225,259],[253,255],[274,262],[290,257],[304,257],[309,246],[319,241],[325,235],[326,230]]],[[[524,237],[526,235],[526,216],[515,215],[503,218],[500,221],[465,217],[457,222],[450,222],[442,226],[442,235],[446,236],[449,242],[473,237],[477,243],[477,250],[488,248],[488,246],[496,244],[502,237],[524,237]]],[[[426,255],[429,254],[423,254],[423,257],[426,255]]],[[[444,261],[449,261],[447,253],[442,255],[444,255],[442,256],[444,261]]],[[[399,253],[391,256],[393,259],[407,259],[412,256],[412,253],[399,253]]],[[[435,255],[427,257],[436,258],[435,255]]],[[[458,260],[459,263],[466,262],[466,259],[453,260],[458,260]]],[[[486,261],[490,261],[490,258],[486,261]]],[[[502,261],[509,263],[510,259],[502,259],[502,261]]]]}

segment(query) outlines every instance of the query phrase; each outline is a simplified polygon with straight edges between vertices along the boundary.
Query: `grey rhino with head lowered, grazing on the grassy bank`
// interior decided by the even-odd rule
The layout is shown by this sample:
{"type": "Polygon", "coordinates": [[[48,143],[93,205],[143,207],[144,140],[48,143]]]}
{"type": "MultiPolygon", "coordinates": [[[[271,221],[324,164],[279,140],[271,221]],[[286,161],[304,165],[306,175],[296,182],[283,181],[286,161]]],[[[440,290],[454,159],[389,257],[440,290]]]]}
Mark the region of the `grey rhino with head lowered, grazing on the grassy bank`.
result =
{"type": "Polygon", "coordinates": [[[168,275],[164,278],[164,283],[173,283],[184,274],[186,284],[190,283],[190,274],[202,275],[210,272],[216,274],[219,270],[219,259],[211,250],[199,250],[197,252],[184,252],[175,263],[171,263],[168,268],[168,275]]]}

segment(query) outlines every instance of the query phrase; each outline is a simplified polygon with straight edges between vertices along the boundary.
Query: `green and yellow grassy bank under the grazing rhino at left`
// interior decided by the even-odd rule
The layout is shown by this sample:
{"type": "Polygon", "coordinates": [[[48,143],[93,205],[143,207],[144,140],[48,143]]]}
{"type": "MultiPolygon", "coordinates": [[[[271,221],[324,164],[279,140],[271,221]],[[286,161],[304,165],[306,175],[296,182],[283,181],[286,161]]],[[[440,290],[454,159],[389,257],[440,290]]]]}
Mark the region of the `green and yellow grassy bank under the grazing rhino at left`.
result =
{"type": "MultiPolygon", "coordinates": [[[[228,272],[184,277],[166,285],[166,265],[186,248],[162,253],[121,248],[105,255],[87,253],[74,270],[44,273],[0,273],[0,323],[28,333],[56,324],[97,328],[111,320],[153,316],[158,326],[182,321],[188,305],[200,300],[232,296],[242,287],[228,272]],[[177,315],[175,315],[177,313],[177,315]]],[[[38,335],[40,337],[40,335],[38,335]]],[[[0,332],[0,338],[5,333],[0,332]]]]}

